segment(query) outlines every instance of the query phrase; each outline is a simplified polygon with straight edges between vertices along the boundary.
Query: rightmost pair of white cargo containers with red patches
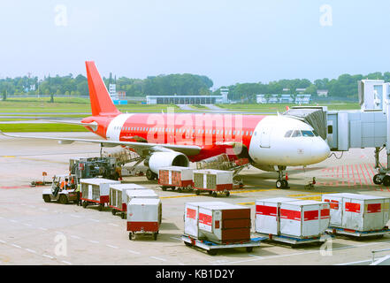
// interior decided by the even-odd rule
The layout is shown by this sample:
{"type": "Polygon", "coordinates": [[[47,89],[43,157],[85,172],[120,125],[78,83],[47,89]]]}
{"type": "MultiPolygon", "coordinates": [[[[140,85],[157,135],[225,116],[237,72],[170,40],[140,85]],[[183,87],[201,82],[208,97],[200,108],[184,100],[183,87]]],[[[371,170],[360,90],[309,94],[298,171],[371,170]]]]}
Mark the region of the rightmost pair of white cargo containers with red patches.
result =
{"type": "Polygon", "coordinates": [[[382,230],[389,220],[390,198],[349,193],[323,195],[330,203],[330,226],[367,232],[382,230]]]}

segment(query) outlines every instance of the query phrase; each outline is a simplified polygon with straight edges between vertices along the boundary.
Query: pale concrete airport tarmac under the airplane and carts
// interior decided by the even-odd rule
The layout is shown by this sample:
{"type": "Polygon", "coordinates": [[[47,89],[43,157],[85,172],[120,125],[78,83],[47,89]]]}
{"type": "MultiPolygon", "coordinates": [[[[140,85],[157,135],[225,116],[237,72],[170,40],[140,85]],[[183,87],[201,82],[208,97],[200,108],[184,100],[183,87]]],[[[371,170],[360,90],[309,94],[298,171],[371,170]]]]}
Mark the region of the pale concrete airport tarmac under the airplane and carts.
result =
{"type": "MultiPolygon", "coordinates": [[[[23,133],[31,134],[31,133],[23,133]]],[[[39,133],[34,133],[34,135],[39,133]]],[[[94,138],[90,133],[42,133],[77,138],[94,138]]],[[[46,180],[68,172],[73,157],[97,157],[99,145],[75,142],[65,145],[53,141],[0,137],[0,265],[332,265],[371,264],[371,251],[389,249],[390,235],[382,239],[355,239],[336,236],[318,244],[292,248],[288,244],[263,241],[260,247],[222,249],[210,256],[202,249],[188,248],[183,233],[184,204],[199,201],[222,201],[241,204],[252,211],[252,237],[255,233],[256,199],[287,196],[320,200],[325,193],[349,192],[367,195],[390,195],[390,187],[374,185],[374,149],[352,149],[329,157],[307,168],[287,168],[290,188],[277,189],[277,173],[254,167],[238,176],[244,187],[229,197],[162,191],[157,181],[145,177],[126,177],[154,189],[163,203],[163,222],[157,241],[149,235],[129,241],[126,219],[113,216],[111,209],[86,209],[75,204],[44,203],[42,189],[30,187],[33,180],[46,180]],[[340,159],[338,159],[338,158],[340,159]],[[316,177],[314,189],[304,186],[316,177]]],[[[381,153],[381,160],[386,160],[381,153]]],[[[386,256],[389,252],[378,255],[386,256]]]]}

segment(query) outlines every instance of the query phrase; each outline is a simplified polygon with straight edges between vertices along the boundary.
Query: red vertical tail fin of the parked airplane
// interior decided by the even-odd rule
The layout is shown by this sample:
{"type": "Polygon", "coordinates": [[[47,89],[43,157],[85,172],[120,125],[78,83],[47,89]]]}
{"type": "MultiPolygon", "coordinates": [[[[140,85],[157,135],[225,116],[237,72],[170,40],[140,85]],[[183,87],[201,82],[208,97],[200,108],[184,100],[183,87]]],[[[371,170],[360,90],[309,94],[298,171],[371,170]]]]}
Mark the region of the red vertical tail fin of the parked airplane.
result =
{"type": "Polygon", "coordinates": [[[104,85],[102,77],[97,71],[94,61],[86,61],[89,99],[93,116],[115,116],[120,111],[112,103],[107,88],[104,85]]]}

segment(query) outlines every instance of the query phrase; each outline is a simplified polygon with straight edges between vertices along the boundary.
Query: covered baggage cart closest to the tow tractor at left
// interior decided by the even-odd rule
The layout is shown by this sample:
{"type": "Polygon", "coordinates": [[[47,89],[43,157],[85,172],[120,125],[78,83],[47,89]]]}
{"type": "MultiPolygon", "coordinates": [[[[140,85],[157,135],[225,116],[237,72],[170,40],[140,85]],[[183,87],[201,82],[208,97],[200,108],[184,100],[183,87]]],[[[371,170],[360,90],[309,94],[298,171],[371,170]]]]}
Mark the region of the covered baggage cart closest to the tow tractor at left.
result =
{"type": "Polygon", "coordinates": [[[82,207],[87,208],[89,204],[99,206],[99,211],[103,210],[105,203],[110,203],[110,185],[120,184],[119,180],[108,180],[100,178],[81,179],[82,207]]]}

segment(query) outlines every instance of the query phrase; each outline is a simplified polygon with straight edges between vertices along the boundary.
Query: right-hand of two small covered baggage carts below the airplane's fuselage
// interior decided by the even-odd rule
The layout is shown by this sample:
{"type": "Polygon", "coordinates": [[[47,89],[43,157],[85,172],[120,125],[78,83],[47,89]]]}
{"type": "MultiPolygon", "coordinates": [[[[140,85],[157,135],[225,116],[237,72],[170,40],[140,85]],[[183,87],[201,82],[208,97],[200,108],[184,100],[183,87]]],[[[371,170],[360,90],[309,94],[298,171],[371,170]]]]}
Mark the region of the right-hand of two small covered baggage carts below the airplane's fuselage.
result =
{"type": "Polygon", "coordinates": [[[196,195],[208,192],[214,197],[221,194],[229,196],[230,190],[233,189],[233,172],[213,169],[194,170],[194,189],[196,195]]]}

